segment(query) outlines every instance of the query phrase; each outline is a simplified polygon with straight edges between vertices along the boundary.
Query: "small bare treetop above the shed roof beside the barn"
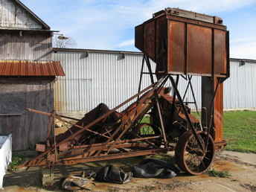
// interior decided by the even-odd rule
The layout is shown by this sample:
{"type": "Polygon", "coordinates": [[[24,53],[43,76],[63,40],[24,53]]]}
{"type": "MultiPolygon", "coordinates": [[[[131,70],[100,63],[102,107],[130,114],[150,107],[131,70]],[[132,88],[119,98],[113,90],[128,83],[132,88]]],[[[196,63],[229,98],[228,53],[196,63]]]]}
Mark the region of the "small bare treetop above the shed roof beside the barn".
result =
{"type": "Polygon", "coordinates": [[[58,35],[53,37],[54,48],[74,48],[77,45],[77,42],[69,37],[58,35]]]}

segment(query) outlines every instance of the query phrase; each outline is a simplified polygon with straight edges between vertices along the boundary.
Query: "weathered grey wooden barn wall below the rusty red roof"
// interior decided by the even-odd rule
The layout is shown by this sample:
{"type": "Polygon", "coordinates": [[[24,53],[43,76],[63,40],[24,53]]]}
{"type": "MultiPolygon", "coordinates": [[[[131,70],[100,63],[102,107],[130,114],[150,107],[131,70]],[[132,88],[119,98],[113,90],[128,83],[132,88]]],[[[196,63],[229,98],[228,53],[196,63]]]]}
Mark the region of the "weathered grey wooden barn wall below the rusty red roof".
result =
{"type": "Polygon", "coordinates": [[[0,134],[13,134],[13,150],[33,149],[36,143],[45,141],[48,117],[27,112],[24,109],[31,107],[45,112],[53,111],[54,93],[51,89],[51,80],[31,80],[31,82],[28,80],[8,80],[1,82],[3,83],[0,83],[2,90],[0,113],[8,109],[6,114],[19,113],[19,115],[0,116],[0,134]],[[13,96],[15,96],[14,99],[11,98],[13,96]],[[18,96],[23,97],[23,100],[19,100],[18,96]],[[6,98],[12,102],[5,100],[6,98]],[[6,107],[4,108],[4,106],[6,107]],[[19,112],[10,109],[19,109],[19,112]]]}

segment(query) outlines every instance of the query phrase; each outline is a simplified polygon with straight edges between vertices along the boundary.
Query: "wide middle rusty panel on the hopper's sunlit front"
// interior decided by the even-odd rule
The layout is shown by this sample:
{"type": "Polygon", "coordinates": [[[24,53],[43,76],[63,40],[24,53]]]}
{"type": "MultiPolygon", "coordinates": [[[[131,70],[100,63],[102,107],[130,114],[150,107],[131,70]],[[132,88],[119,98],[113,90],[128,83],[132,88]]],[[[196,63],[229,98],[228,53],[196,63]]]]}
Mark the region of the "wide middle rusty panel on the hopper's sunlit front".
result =
{"type": "Polygon", "coordinates": [[[188,73],[211,74],[211,39],[210,28],[188,24],[188,73]]]}

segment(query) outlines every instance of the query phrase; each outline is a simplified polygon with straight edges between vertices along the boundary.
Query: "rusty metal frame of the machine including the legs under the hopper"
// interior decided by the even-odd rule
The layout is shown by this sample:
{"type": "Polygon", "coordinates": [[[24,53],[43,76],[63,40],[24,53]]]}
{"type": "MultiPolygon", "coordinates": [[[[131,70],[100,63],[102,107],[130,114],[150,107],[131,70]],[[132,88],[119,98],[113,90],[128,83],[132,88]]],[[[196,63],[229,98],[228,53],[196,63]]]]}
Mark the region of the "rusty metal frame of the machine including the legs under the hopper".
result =
{"type": "MultiPolygon", "coordinates": [[[[77,164],[89,161],[122,159],[134,156],[153,155],[160,152],[166,153],[167,151],[174,150],[174,147],[170,146],[169,142],[167,141],[167,134],[165,132],[166,129],[164,128],[164,120],[161,114],[161,106],[159,103],[159,93],[163,89],[165,83],[167,83],[167,80],[170,80],[170,83],[172,84],[172,87],[174,89],[173,103],[176,102],[177,97],[177,99],[179,100],[179,105],[182,106],[182,112],[185,115],[185,120],[188,122],[189,130],[193,132],[193,135],[195,136],[196,141],[199,143],[201,150],[205,151],[205,145],[202,143],[202,139],[199,138],[199,135],[196,134],[197,130],[195,127],[193,127],[193,123],[191,122],[191,118],[185,107],[185,103],[177,88],[179,83],[179,75],[177,75],[176,81],[170,74],[165,74],[157,82],[154,82],[150,59],[149,57],[144,55],[141,64],[141,76],[138,86],[138,94],[130,97],[128,100],[124,101],[124,103],[121,103],[114,109],[109,110],[109,112],[106,112],[106,114],[96,118],[94,121],[87,124],[86,126],[72,124],[73,127],[77,127],[79,128],[79,130],[74,133],[71,132],[72,134],[68,136],[68,138],[64,138],[60,142],[57,142],[56,136],[54,135],[53,120],[54,118],[57,118],[60,121],[70,124],[68,121],[65,121],[63,119],[68,117],[63,115],[57,115],[56,112],[47,113],[40,112],[35,109],[28,109],[28,111],[30,112],[36,112],[41,115],[47,115],[49,117],[48,138],[54,137],[54,144],[51,144],[51,147],[48,148],[48,150],[42,150],[43,152],[39,156],[36,156],[35,159],[25,162],[22,167],[51,167],[55,164],[77,164]],[[148,73],[144,73],[145,63],[149,70],[148,73]],[[150,74],[150,80],[152,84],[141,91],[141,80],[143,74],[150,74]],[[112,115],[112,113],[116,112],[117,109],[120,109],[121,106],[124,106],[125,104],[131,102],[134,99],[136,99],[135,102],[132,103],[125,110],[125,112],[121,115],[118,121],[115,122],[115,124],[112,124],[112,129],[105,129],[105,132],[97,132],[96,130],[92,129],[92,127],[94,127],[96,124],[105,121],[106,118],[109,117],[109,115],[112,115]],[[134,135],[134,138],[124,138],[123,136],[126,135],[129,130],[134,129],[136,125],[140,124],[141,119],[154,105],[156,106],[159,115],[161,135],[150,135],[147,137],[141,137],[136,134],[136,132],[130,131],[129,133],[132,133],[132,135],[134,135]],[[103,142],[96,144],[72,145],[72,143],[75,141],[75,138],[78,135],[83,134],[83,132],[97,135],[98,137],[103,139],[103,142]],[[161,144],[156,145],[156,140],[161,141],[161,144]],[[117,153],[115,150],[117,151],[117,153]]],[[[188,77],[188,81],[188,86],[191,86],[191,89],[193,91],[191,85],[191,77],[188,77]]],[[[173,108],[174,107],[175,106],[173,105],[173,108]]],[[[170,110],[174,112],[174,109],[170,110]]],[[[69,119],[77,120],[74,118],[69,119]]],[[[210,132],[210,129],[208,129],[208,132],[210,132]]]]}

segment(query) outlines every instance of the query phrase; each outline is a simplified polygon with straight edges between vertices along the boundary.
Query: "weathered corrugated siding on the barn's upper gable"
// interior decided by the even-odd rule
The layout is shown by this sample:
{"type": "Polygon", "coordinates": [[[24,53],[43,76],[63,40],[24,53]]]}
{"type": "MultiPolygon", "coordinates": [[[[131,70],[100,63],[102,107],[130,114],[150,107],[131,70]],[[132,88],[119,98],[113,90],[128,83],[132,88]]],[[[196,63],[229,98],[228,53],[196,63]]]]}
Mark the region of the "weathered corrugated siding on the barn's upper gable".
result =
{"type": "Polygon", "coordinates": [[[42,29],[28,12],[11,0],[0,1],[0,28],[42,29]]]}

